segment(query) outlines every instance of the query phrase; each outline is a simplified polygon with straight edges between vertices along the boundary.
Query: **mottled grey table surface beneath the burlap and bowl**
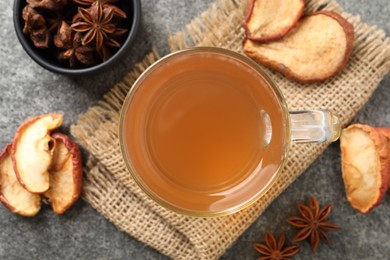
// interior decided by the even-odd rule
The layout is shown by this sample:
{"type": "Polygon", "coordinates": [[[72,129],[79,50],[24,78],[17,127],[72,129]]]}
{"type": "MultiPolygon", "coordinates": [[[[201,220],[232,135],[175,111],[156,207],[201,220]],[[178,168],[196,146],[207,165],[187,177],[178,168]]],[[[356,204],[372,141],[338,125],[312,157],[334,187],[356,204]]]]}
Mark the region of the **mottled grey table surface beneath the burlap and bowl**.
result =
{"type": "MultiPolygon", "coordinates": [[[[34,63],[19,44],[12,24],[12,0],[0,9],[0,147],[11,141],[25,119],[46,112],[65,114],[63,131],[77,115],[96,103],[135,62],[156,46],[168,53],[167,35],[182,29],[206,10],[212,0],[143,0],[143,27],[130,55],[115,68],[95,77],[71,79],[34,63]]],[[[390,35],[389,0],[339,0],[345,10],[376,24],[390,35]]],[[[390,127],[390,74],[381,82],[353,122],[390,127]]],[[[342,111],[340,111],[342,112],[342,111]]],[[[286,217],[310,195],[331,202],[331,220],[343,227],[331,234],[331,246],[312,253],[307,243],[295,259],[390,259],[390,195],[369,215],[353,210],[344,194],[338,143],[330,145],[264,214],[227,250],[222,259],[255,259],[252,248],[266,231],[292,230],[286,217]]],[[[34,218],[16,216],[0,206],[0,259],[165,259],[152,248],[119,231],[84,201],[65,215],[45,207],[34,218]]]]}

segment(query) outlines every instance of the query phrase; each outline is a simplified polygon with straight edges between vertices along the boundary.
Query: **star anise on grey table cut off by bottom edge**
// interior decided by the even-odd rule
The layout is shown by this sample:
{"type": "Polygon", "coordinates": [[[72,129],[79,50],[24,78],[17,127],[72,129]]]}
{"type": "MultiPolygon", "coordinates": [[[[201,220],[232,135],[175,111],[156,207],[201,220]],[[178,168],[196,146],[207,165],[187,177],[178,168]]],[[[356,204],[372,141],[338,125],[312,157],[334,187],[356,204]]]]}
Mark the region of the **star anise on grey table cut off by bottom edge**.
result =
{"type": "Polygon", "coordinates": [[[292,245],[284,247],[286,235],[283,233],[279,236],[278,241],[274,236],[267,232],[264,236],[264,244],[254,244],[256,251],[261,253],[263,256],[259,257],[258,260],[285,260],[291,259],[293,255],[298,253],[299,246],[292,245]]]}

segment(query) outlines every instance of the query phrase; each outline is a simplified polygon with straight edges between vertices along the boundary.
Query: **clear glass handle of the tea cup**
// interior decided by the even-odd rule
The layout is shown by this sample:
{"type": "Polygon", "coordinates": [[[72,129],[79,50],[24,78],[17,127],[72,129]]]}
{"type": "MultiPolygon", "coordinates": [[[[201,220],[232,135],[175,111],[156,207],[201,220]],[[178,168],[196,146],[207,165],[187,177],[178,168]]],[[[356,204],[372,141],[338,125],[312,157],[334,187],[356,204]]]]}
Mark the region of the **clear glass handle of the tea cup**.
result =
{"type": "Polygon", "coordinates": [[[340,119],[328,110],[290,111],[291,143],[320,143],[340,137],[340,119]]]}

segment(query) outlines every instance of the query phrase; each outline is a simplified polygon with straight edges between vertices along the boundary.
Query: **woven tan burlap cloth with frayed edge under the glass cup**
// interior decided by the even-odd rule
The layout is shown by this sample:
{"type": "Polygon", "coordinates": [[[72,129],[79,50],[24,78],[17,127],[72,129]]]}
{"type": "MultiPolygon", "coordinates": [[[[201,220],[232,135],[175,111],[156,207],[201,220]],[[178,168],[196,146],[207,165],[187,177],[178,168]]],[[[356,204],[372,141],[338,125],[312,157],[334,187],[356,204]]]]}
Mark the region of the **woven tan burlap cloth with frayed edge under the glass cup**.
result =
{"type": "MultiPolygon", "coordinates": [[[[289,108],[337,111],[346,124],[370,97],[390,68],[390,40],[383,31],[343,13],[334,1],[313,0],[307,12],[342,13],[356,32],[353,54],[338,76],[321,84],[301,85],[271,71],[289,108]]],[[[241,52],[242,21],[248,0],[216,1],[185,31],[170,37],[173,50],[192,45],[219,46],[241,52]]],[[[191,218],[158,206],[137,187],[127,172],[119,148],[119,111],[134,80],[159,58],[156,51],[135,66],[96,106],[80,115],[71,132],[89,151],[83,198],[119,229],[175,259],[215,259],[264,209],[319,156],[326,144],[293,146],[277,183],[257,203],[239,213],[218,218],[191,218]]]]}

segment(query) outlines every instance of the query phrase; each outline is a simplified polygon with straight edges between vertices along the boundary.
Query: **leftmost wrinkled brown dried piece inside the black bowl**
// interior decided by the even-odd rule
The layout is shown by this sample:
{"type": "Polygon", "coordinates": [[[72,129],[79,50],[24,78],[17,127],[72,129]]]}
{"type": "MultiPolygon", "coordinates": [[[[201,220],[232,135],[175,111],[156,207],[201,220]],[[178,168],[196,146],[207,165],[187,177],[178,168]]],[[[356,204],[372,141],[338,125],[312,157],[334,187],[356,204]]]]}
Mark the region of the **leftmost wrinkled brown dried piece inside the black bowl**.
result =
{"type": "Polygon", "coordinates": [[[49,30],[46,27],[45,18],[30,5],[23,8],[22,17],[24,20],[23,33],[30,35],[35,47],[48,48],[49,30]]]}

